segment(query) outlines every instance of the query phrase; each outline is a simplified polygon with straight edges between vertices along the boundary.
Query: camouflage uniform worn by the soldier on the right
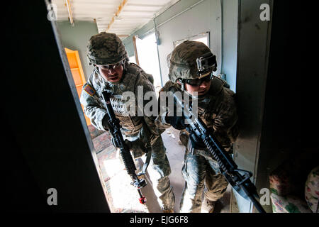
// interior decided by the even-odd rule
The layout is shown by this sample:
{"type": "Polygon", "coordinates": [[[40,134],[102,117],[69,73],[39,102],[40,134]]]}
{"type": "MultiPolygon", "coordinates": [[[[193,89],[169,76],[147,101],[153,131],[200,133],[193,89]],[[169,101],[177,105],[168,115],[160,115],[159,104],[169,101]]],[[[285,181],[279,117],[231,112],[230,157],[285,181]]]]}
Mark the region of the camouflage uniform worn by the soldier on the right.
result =
{"type": "MultiPolygon", "coordinates": [[[[184,50],[191,51],[189,48],[184,48],[184,50]]],[[[179,53],[179,56],[183,56],[183,54],[179,53]]],[[[172,67],[170,69],[170,74],[172,74],[172,67]]],[[[174,81],[174,79],[170,79],[174,81]]],[[[223,148],[232,153],[233,143],[238,134],[237,111],[233,97],[234,92],[224,85],[223,80],[213,77],[208,93],[193,98],[198,99],[198,117],[206,123],[208,128],[213,129],[213,134],[216,135],[223,148]]],[[[167,82],[160,92],[168,92],[170,87],[175,87],[182,93],[186,92],[181,89],[180,84],[172,81],[167,82]]],[[[164,116],[165,114],[158,116],[155,120],[160,130],[170,127],[164,116]]],[[[220,174],[218,162],[213,160],[208,150],[192,148],[189,133],[185,129],[180,131],[179,138],[186,147],[182,168],[185,185],[181,196],[180,212],[201,212],[204,182],[207,189],[204,195],[210,201],[217,201],[223,196],[228,182],[220,174]]]]}

